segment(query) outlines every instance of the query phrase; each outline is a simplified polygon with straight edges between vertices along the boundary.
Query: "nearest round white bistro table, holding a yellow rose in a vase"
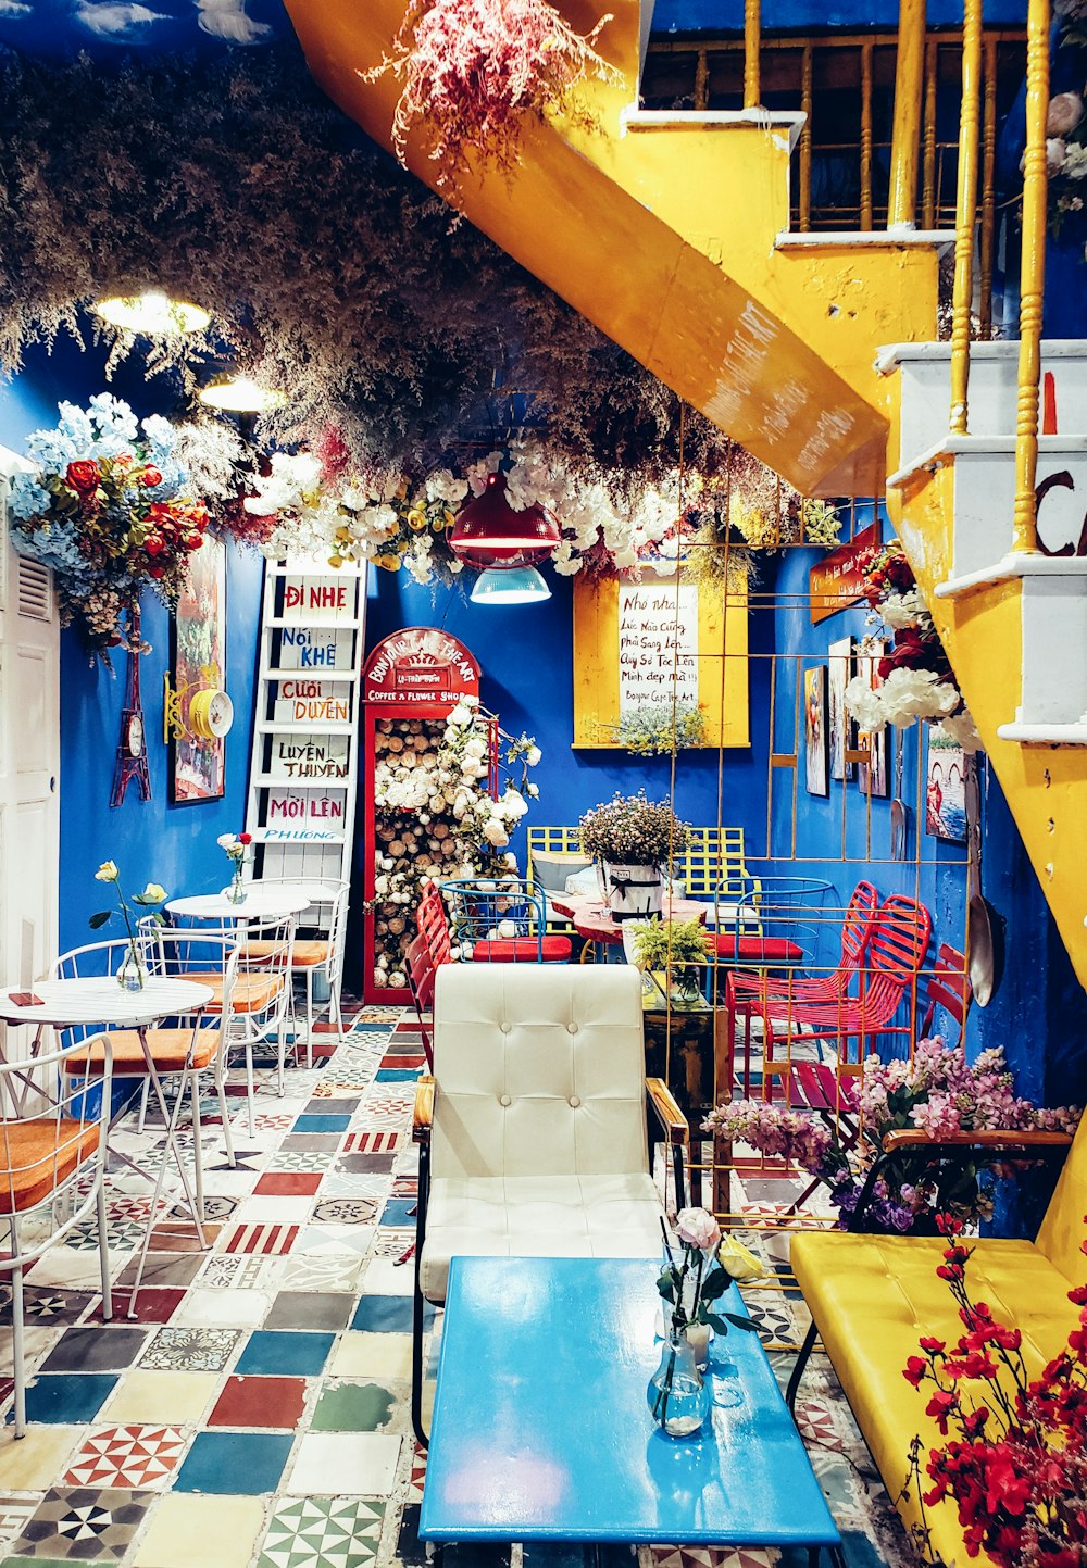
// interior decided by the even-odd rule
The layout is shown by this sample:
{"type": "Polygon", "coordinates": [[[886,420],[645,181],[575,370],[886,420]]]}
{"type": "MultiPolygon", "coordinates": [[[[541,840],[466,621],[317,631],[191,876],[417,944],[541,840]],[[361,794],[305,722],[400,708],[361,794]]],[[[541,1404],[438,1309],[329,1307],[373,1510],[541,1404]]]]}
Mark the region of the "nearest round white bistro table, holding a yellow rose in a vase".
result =
{"type": "MultiPolygon", "coordinates": [[[[0,1019],[5,1024],[24,1024],[31,1025],[36,1030],[30,1049],[30,1062],[27,1063],[28,1076],[25,1082],[28,1088],[41,1087],[33,1083],[30,1073],[45,1029],[115,1027],[130,1029],[140,1036],[140,1044],[147,1063],[147,1079],[158,1102],[166,1137],[163,1140],[163,1156],[158,1174],[154,1179],[155,1190],[151,1200],[147,1228],[140,1253],[140,1269],[136,1270],[136,1278],[129,1294],[129,1317],[135,1317],[136,1292],[143,1278],[147,1247],[151,1243],[151,1231],[155,1225],[158,1200],[166,1178],[166,1162],[171,1154],[174,1157],[174,1163],[177,1165],[177,1174],[180,1176],[180,1182],[185,1190],[185,1201],[188,1203],[188,1209],[193,1215],[199,1243],[201,1247],[207,1247],[201,1212],[202,1206],[193,1193],[193,1185],[177,1145],[177,1113],[185,1096],[184,1093],[177,1094],[173,1112],[166,1107],[162,1079],[155,1069],[154,1052],[147,1041],[147,1029],[162,1022],[163,1018],[191,1018],[193,1040],[196,1040],[199,1014],[213,996],[215,993],[210,986],[201,985],[196,980],[171,980],[163,975],[147,975],[140,991],[125,991],[118,985],[115,975],[85,975],[71,980],[38,980],[30,991],[14,988],[0,989],[0,1019]],[[14,1000],[14,997],[19,997],[19,1000],[14,1000]],[[27,1000],[24,1000],[24,997],[27,1000]]],[[[121,1159],[124,1159],[127,1165],[133,1165],[133,1162],[124,1154],[121,1159]]],[[[133,1170],[140,1170],[147,1181],[152,1179],[151,1174],[143,1171],[138,1165],[133,1165],[133,1170]]]]}

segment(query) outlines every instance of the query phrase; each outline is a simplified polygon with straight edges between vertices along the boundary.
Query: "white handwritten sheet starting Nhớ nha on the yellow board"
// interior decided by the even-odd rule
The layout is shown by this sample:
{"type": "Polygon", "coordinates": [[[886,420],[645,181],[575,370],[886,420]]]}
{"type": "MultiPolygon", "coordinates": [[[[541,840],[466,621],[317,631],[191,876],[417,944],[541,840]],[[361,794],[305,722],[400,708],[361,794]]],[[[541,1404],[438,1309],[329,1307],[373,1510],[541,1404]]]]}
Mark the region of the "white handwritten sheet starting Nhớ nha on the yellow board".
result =
{"type": "Polygon", "coordinates": [[[620,583],[620,718],[673,696],[698,706],[698,588],[620,583]]]}

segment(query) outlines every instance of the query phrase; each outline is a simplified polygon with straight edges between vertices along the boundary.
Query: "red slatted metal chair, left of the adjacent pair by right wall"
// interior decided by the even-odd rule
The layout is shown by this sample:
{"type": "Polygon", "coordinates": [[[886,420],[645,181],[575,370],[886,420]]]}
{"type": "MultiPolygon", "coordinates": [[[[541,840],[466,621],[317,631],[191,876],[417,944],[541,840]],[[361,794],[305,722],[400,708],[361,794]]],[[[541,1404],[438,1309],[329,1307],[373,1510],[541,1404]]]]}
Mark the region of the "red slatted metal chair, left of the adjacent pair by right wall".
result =
{"type": "MultiPolygon", "coordinates": [[[[842,944],[838,969],[828,975],[800,977],[792,974],[750,974],[729,971],[725,989],[726,1038],[736,1038],[736,1021],[743,1019],[743,1093],[751,1085],[751,1019],[770,1013],[775,1018],[797,1018],[797,1005],[838,1005],[845,997],[853,977],[860,972],[875,922],[880,895],[869,881],[860,881],[853,889],[842,920],[842,944]]],[[[814,1066],[816,1063],[811,1063],[814,1066]]],[[[838,1101],[836,1076],[825,1069],[828,1085],[819,1090],[813,1083],[814,1099],[809,1099],[800,1082],[795,1102],[823,1110],[838,1101]],[[830,1098],[828,1098],[830,1096],[830,1098]]],[[[791,1096],[792,1098],[792,1096],[791,1096]]]]}

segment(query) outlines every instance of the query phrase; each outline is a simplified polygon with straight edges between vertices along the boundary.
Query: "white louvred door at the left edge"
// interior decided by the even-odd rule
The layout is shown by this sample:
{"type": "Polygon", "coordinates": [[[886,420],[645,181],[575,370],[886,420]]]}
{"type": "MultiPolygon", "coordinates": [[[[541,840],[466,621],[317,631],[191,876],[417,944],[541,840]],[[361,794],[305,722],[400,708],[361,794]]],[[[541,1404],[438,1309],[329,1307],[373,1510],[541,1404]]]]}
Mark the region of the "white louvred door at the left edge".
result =
{"type": "Polygon", "coordinates": [[[8,541],[0,447],[0,983],[41,978],[56,956],[60,622],[52,572],[8,541]]]}

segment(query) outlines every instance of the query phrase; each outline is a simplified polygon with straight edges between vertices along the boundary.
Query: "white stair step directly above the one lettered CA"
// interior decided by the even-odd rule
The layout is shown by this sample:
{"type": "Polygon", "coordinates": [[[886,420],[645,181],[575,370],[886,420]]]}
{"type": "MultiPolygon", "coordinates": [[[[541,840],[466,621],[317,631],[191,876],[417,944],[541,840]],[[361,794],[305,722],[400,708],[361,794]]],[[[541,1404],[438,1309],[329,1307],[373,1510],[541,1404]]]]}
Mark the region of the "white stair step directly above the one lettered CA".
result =
{"type": "MultiPolygon", "coordinates": [[[[883,376],[897,373],[902,383],[899,452],[891,456],[902,472],[913,453],[925,452],[947,430],[951,343],[891,343],[878,351],[875,370],[883,376]]],[[[1018,342],[969,345],[971,436],[1013,434],[1018,373],[1018,342]]],[[[1057,430],[1071,430],[1087,398],[1087,343],[1043,340],[1042,373],[1052,376],[1057,430]]]]}

